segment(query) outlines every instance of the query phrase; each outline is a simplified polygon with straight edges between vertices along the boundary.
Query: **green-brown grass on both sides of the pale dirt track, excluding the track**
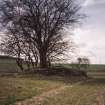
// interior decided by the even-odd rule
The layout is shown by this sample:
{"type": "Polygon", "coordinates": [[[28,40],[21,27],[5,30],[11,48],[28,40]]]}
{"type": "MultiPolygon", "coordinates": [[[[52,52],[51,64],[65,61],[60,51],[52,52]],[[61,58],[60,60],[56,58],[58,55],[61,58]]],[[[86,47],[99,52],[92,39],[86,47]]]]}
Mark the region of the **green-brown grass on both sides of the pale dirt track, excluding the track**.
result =
{"type": "MultiPolygon", "coordinates": [[[[95,78],[82,84],[65,81],[60,77],[17,76],[0,77],[0,105],[39,96],[40,94],[62,86],[64,91],[53,97],[45,97],[41,105],[91,105],[96,93],[104,90],[105,78],[95,78]]],[[[33,103],[34,104],[34,103],[33,103]]]]}

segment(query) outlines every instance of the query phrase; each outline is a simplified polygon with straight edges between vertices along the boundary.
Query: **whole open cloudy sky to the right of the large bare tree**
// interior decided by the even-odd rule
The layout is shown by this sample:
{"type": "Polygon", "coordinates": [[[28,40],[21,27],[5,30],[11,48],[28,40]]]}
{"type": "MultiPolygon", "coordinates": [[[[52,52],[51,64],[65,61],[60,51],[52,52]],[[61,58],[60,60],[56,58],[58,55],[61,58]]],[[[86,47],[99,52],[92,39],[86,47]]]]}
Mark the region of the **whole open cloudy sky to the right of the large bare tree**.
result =
{"type": "Polygon", "coordinates": [[[105,0],[84,0],[81,11],[87,17],[74,31],[77,54],[91,63],[105,64],[105,0]]]}

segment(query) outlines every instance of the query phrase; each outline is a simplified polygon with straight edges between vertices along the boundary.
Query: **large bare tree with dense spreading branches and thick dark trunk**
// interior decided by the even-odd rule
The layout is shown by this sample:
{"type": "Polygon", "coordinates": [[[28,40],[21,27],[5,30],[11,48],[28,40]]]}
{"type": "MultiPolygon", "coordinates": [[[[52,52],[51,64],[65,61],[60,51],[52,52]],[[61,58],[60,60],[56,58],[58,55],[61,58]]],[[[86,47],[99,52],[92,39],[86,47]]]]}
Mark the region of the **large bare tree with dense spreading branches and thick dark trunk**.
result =
{"type": "Polygon", "coordinates": [[[0,22],[11,36],[5,44],[19,58],[28,56],[28,61],[39,61],[45,68],[67,50],[60,30],[78,23],[79,9],[76,0],[2,0],[0,22]]]}

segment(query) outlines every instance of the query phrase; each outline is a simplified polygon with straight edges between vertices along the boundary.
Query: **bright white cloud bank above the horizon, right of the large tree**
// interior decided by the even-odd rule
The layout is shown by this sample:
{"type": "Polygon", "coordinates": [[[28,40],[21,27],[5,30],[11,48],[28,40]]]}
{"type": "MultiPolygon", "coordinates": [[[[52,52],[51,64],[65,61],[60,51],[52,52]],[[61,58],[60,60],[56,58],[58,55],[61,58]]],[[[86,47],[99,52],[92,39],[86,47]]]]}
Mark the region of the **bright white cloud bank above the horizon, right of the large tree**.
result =
{"type": "Polygon", "coordinates": [[[105,63],[104,34],[105,31],[98,29],[80,28],[75,30],[73,37],[78,45],[78,56],[87,56],[92,63],[105,63]]]}

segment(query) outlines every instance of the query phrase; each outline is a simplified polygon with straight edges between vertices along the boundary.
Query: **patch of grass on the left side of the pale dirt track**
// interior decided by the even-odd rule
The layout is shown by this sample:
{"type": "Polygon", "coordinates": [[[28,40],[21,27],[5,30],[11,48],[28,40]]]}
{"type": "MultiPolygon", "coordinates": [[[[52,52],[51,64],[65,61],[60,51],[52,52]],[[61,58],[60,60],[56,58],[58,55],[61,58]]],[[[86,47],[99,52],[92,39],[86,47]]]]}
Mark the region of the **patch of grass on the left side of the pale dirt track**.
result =
{"type": "Polygon", "coordinates": [[[61,82],[44,80],[44,77],[0,77],[0,105],[40,95],[62,85],[61,82]]]}

